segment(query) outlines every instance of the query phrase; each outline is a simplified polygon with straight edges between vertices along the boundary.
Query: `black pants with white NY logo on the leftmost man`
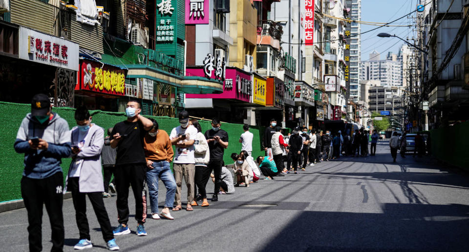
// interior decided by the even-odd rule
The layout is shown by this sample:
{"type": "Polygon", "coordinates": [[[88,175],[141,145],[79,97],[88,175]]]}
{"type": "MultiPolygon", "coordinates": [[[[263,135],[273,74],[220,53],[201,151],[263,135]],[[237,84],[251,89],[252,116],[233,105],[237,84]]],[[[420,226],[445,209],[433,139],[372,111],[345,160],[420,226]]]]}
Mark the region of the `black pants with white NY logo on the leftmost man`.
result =
{"type": "Polygon", "coordinates": [[[21,178],[21,196],[28,211],[29,251],[42,251],[43,205],[52,230],[51,251],[64,249],[64,217],[62,214],[64,176],[62,172],[43,179],[21,178]]]}

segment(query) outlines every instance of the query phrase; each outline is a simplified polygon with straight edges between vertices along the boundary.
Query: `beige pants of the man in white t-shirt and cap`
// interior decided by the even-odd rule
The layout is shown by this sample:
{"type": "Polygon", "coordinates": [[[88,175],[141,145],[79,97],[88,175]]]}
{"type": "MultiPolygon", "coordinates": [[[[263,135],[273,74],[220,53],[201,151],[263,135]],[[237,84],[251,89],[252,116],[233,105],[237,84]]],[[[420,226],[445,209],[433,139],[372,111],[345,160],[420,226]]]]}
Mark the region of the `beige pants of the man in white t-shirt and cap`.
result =
{"type": "Polygon", "coordinates": [[[194,164],[173,164],[172,169],[174,170],[174,179],[176,180],[177,185],[176,195],[174,197],[176,200],[176,206],[181,205],[181,186],[183,176],[187,186],[187,204],[191,204],[192,200],[194,200],[194,164]]]}

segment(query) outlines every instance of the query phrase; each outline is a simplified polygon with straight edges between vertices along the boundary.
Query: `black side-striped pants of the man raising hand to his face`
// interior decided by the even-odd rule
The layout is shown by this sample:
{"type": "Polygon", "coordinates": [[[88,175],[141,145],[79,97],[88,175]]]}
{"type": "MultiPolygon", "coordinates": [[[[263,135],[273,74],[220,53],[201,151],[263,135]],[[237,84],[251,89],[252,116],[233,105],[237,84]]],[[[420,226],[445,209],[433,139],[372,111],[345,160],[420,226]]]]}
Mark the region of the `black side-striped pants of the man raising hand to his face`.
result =
{"type": "Polygon", "coordinates": [[[147,199],[145,181],[147,180],[147,166],[145,164],[117,165],[116,177],[117,215],[120,224],[128,222],[128,186],[132,186],[135,197],[135,219],[139,224],[145,223],[147,218],[147,199]]]}

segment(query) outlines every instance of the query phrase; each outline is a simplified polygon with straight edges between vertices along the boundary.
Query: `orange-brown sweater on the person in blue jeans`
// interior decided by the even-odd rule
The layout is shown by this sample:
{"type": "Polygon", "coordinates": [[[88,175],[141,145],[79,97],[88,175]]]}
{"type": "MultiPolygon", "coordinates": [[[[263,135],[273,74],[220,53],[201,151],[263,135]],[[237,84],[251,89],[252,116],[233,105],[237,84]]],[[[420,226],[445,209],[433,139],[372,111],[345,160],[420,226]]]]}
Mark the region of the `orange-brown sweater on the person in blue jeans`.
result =
{"type": "Polygon", "coordinates": [[[158,130],[156,136],[147,134],[144,138],[145,158],[151,161],[167,160],[172,161],[174,152],[172,151],[170,136],[164,130],[158,130]]]}

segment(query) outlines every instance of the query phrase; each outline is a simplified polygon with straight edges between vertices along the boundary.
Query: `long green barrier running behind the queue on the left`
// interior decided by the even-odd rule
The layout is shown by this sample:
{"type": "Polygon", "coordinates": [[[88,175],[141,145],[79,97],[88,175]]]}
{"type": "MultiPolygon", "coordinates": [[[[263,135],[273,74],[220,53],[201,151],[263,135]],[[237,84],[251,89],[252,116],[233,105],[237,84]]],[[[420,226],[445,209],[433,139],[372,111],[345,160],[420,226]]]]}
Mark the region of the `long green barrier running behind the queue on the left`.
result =
{"type": "MultiPolygon", "coordinates": [[[[31,110],[30,104],[18,104],[9,102],[0,102],[0,202],[15,199],[21,199],[20,180],[23,171],[23,154],[18,154],[13,148],[18,129],[22,119],[31,110]]],[[[67,120],[70,129],[76,125],[74,119],[75,110],[71,108],[53,108],[54,112],[59,114],[67,120]]],[[[105,130],[114,126],[117,122],[126,119],[124,113],[104,112],[99,110],[90,111],[92,122],[103,127],[105,130]]],[[[177,118],[171,117],[156,117],[160,129],[165,130],[168,134],[171,129],[179,125],[177,118]]],[[[210,121],[200,121],[202,132],[212,128],[210,121]]],[[[239,143],[239,136],[243,131],[242,124],[235,123],[222,123],[221,128],[228,132],[229,145],[225,150],[223,159],[225,164],[233,163],[230,155],[232,153],[239,153],[241,151],[241,143],[239,143]]],[[[250,131],[254,134],[253,139],[253,156],[256,158],[258,155],[264,155],[261,149],[261,142],[264,128],[253,127],[250,131]]],[[[105,131],[107,132],[107,131],[105,131]]],[[[62,168],[64,176],[68,172],[70,165],[70,158],[62,159],[62,168]]]]}

